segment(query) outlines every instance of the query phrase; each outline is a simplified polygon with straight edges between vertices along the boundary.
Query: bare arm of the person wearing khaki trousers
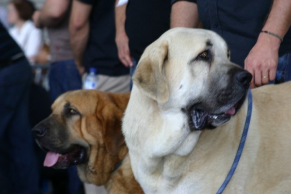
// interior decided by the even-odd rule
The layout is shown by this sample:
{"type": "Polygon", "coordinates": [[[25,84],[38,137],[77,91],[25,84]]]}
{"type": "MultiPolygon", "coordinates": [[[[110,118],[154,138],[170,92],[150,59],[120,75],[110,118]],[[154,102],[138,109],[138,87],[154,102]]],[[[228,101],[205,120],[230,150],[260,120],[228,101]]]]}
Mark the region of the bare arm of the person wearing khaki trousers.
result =
{"type": "Polygon", "coordinates": [[[75,63],[80,74],[84,73],[82,60],[89,39],[89,16],[91,10],[92,5],[73,0],[69,21],[69,34],[75,63]]]}

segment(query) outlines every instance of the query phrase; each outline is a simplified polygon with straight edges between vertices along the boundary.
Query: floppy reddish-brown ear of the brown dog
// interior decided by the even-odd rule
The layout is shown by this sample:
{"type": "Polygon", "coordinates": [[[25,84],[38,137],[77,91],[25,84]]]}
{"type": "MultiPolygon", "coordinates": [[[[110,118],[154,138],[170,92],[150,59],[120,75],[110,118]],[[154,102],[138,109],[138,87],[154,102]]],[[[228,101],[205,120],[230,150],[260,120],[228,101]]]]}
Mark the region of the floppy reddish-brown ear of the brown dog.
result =
{"type": "Polygon", "coordinates": [[[123,111],[113,103],[106,103],[102,106],[102,110],[97,111],[97,117],[102,121],[102,135],[106,149],[114,155],[125,142],[121,131],[123,111]]]}

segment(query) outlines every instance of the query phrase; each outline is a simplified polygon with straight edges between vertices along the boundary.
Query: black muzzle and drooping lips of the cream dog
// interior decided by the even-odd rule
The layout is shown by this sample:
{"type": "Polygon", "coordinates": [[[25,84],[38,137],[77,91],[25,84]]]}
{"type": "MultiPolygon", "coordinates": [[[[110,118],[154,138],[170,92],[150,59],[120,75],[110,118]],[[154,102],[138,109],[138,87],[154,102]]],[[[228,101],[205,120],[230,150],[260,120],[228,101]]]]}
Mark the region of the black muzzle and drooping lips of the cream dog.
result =
{"type": "Polygon", "coordinates": [[[182,109],[188,115],[190,129],[213,129],[229,121],[240,110],[251,79],[250,73],[236,66],[225,75],[210,76],[207,97],[195,99],[182,109]]]}

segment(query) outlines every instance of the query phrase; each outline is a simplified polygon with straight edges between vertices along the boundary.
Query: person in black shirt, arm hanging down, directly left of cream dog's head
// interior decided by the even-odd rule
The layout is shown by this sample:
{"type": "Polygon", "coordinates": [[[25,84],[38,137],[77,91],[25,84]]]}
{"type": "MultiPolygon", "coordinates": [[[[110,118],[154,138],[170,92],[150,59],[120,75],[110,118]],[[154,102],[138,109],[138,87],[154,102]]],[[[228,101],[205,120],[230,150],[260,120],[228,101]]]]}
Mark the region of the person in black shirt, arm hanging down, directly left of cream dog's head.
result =
{"type": "Polygon", "coordinates": [[[116,0],[115,42],[131,77],[146,47],[170,29],[170,12],[171,0],[116,0]]]}

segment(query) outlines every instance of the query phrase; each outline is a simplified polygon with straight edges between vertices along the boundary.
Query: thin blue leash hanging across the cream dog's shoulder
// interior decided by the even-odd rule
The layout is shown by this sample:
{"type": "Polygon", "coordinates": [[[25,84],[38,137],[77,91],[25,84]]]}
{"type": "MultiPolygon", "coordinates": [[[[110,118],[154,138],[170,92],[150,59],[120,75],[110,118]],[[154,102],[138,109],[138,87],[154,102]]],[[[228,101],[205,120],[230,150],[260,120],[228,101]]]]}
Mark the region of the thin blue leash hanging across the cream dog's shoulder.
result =
{"type": "Polygon", "coordinates": [[[216,194],[222,194],[222,192],[224,191],[224,189],[226,188],[230,178],[232,177],[236,167],[238,166],[238,163],[241,159],[242,156],[242,149],[245,143],[245,139],[246,139],[246,135],[247,135],[247,131],[248,128],[250,126],[250,121],[251,121],[251,116],[252,116],[252,104],[253,104],[253,100],[252,100],[252,93],[251,90],[248,91],[248,107],[247,107],[247,115],[246,115],[246,119],[245,119],[245,124],[244,124],[244,129],[242,131],[242,139],[241,139],[241,143],[240,146],[238,148],[237,154],[235,156],[235,159],[232,163],[232,166],[229,170],[229,173],[225,179],[225,181],[223,182],[223,184],[221,185],[221,187],[219,188],[218,192],[216,194]]]}

